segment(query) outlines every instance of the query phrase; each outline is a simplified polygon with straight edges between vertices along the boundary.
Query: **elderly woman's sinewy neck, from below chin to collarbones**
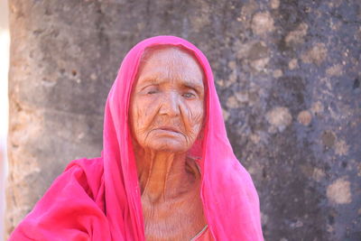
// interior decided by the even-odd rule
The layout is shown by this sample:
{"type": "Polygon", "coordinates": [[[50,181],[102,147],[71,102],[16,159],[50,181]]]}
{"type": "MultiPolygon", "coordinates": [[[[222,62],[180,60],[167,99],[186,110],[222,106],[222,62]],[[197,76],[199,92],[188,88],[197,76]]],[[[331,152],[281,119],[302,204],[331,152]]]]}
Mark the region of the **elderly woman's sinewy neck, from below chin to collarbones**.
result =
{"type": "Polygon", "coordinates": [[[142,197],[153,203],[179,198],[199,180],[197,166],[186,153],[143,150],[135,152],[135,158],[142,197]]]}

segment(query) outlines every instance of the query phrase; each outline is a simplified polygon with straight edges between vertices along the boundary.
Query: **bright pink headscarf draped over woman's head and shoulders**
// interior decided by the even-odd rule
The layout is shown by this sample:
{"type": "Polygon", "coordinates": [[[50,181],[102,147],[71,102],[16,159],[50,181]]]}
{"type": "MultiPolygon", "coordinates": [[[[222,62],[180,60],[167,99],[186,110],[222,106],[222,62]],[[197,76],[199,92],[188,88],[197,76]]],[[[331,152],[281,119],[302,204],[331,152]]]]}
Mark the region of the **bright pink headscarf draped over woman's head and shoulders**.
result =
{"type": "Polygon", "coordinates": [[[146,39],[128,52],[106,100],[102,156],[71,162],[10,240],[145,240],[128,108],[143,51],[163,44],[193,53],[206,76],[204,134],[191,153],[201,157],[200,197],[212,236],[264,240],[255,186],[227,139],[208,60],[193,44],[173,36],[146,39]]]}

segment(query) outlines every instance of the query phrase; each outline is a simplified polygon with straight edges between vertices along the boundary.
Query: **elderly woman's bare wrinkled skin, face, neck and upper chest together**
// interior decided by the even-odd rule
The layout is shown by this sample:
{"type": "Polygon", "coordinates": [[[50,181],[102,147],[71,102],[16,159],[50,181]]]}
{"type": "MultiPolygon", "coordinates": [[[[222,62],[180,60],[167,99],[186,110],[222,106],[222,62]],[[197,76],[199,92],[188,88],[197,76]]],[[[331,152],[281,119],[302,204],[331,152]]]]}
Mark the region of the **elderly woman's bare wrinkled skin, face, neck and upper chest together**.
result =
{"type": "Polygon", "coordinates": [[[138,70],[130,125],[147,240],[190,240],[206,225],[187,156],[205,116],[203,79],[197,60],[174,47],[149,50],[138,70]]]}

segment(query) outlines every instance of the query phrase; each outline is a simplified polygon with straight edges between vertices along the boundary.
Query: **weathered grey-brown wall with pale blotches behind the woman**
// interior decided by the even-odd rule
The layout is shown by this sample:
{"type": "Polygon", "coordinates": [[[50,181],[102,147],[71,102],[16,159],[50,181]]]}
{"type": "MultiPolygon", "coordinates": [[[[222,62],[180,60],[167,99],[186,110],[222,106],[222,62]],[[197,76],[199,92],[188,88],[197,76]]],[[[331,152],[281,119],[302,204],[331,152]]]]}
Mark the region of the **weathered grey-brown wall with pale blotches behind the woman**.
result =
{"type": "Polygon", "coordinates": [[[174,34],[213,67],[266,240],[361,240],[358,0],[12,0],[10,232],[67,162],[97,156],[136,42],[174,34]]]}

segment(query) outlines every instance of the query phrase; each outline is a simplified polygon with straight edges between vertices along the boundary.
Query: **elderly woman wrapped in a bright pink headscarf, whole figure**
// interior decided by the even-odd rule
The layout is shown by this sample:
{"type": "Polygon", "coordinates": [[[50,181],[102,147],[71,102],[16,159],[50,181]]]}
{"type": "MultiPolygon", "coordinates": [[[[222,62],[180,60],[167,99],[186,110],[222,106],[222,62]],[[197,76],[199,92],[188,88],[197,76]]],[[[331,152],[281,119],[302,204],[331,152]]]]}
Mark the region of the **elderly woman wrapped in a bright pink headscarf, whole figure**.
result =
{"type": "Polygon", "coordinates": [[[158,36],[128,52],[103,137],[101,157],[71,162],[10,240],[263,240],[254,184],[190,42],[158,36]]]}

